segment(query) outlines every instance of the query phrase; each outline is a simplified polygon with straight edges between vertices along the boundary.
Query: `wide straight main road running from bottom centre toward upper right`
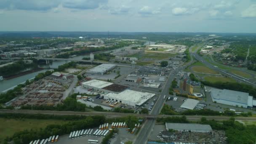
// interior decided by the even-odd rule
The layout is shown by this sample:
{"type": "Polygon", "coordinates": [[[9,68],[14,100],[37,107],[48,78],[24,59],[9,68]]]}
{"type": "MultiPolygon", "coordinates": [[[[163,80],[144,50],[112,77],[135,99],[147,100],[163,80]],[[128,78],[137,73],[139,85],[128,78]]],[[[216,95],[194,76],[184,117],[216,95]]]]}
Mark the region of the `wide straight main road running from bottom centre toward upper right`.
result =
{"type": "MultiPolygon", "coordinates": [[[[190,47],[189,49],[191,49],[190,47]]],[[[191,61],[187,64],[185,64],[183,67],[179,67],[178,69],[175,69],[170,72],[168,75],[168,79],[164,85],[164,88],[162,89],[162,92],[160,96],[158,97],[157,101],[155,102],[154,107],[152,108],[150,114],[152,115],[158,115],[163,107],[163,104],[165,102],[164,96],[168,96],[169,88],[171,86],[171,81],[174,79],[177,72],[180,72],[181,70],[185,69],[187,66],[192,64],[194,61],[193,57],[190,55],[191,61]]],[[[166,98],[166,97],[165,97],[166,98]]],[[[155,119],[148,119],[144,123],[144,125],[141,127],[141,130],[139,131],[136,140],[133,142],[133,144],[146,144],[147,139],[149,137],[149,134],[151,133],[152,129],[155,126],[155,119]]]]}

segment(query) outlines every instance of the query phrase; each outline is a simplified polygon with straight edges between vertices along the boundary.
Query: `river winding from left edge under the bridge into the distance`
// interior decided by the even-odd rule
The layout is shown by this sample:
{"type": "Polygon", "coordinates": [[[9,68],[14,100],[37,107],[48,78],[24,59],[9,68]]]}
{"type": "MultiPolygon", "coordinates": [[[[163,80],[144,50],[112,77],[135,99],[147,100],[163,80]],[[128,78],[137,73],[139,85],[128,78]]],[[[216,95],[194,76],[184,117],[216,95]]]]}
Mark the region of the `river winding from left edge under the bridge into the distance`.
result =
{"type": "MultiPolygon", "coordinates": [[[[150,42],[150,44],[154,44],[154,42],[150,42]]],[[[149,45],[149,42],[146,42],[144,45],[149,45]]],[[[139,46],[139,45],[125,46],[125,47],[122,47],[122,48],[117,48],[115,50],[101,51],[101,52],[97,52],[97,53],[110,53],[111,51],[121,51],[121,50],[123,50],[125,48],[131,48],[133,46],[139,46]]],[[[84,57],[90,57],[90,54],[88,53],[88,54],[85,54],[83,56],[74,56],[74,57],[71,57],[69,59],[83,59],[84,57]]],[[[62,64],[65,64],[65,61],[53,61],[50,64],[50,68],[51,69],[56,69],[56,68],[58,68],[59,65],[62,65],[62,64]]],[[[35,77],[40,72],[47,71],[47,69],[46,69],[47,65],[40,65],[40,67],[44,67],[45,69],[43,69],[41,71],[38,71],[38,72],[30,73],[30,74],[27,74],[27,75],[22,75],[20,77],[15,77],[15,78],[10,79],[10,80],[2,80],[2,81],[0,81],[0,92],[5,91],[5,90],[10,89],[10,88],[13,88],[16,85],[18,85],[20,83],[23,83],[26,80],[29,80],[29,79],[35,77]]]]}

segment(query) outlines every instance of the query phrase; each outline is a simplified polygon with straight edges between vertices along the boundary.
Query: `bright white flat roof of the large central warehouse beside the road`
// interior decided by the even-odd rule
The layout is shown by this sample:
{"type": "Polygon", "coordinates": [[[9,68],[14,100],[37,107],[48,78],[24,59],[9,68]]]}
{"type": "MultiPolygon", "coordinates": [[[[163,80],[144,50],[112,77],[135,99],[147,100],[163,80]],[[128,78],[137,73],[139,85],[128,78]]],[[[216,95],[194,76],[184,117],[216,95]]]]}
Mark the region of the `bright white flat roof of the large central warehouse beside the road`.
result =
{"type": "Polygon", "coordinates": [[[122,101],[129,101],[135,103],[136,105],[141,105],[148,99],[155,96],[155,93],[143,93],[139,91],[125,90],[121,93],[108,93],[106,96],[112,97],[114,99],[121,99],[122,101]]]}

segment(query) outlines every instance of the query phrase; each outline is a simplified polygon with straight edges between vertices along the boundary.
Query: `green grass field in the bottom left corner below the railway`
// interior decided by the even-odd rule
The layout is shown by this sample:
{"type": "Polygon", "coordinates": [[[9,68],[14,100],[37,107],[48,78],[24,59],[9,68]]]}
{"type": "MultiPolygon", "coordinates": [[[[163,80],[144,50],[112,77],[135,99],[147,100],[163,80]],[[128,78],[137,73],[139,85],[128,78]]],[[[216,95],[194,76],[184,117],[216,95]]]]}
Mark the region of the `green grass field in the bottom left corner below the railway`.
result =
{"type": "Polygon", "coordinates": [[[6,136],[12,136],[15,132],[25,129],[45,128],[51,124],[64,124],[64,120],[36,120],[36,119],[6,119],[0,118],[0,144],[6,136]]]}

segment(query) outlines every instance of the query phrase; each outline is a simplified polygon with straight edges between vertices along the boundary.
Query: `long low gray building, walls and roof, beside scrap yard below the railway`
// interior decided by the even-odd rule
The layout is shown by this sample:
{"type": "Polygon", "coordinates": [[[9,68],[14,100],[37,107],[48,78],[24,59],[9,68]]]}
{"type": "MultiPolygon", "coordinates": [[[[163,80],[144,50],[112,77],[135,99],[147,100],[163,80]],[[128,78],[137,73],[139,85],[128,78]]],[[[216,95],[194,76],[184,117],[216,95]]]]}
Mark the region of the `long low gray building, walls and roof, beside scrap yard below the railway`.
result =
{"type": "Polygon", "coordinates": [[[189,131],[197,133],[208,133],[212,131],[211,125],[197,123],[165,123],[166,130],[189,131]]]}

